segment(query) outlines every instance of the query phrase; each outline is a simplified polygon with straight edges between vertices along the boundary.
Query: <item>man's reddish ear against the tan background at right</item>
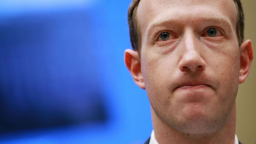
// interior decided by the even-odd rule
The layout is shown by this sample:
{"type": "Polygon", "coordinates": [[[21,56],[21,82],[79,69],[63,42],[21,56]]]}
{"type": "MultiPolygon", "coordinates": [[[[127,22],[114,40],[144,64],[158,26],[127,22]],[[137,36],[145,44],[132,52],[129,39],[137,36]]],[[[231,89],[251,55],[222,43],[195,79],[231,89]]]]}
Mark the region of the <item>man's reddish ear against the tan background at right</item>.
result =
{"type": "Polygon", "coordinates": [[[247,39],[241,44],[240,52],[240,71],[239,71],[239,84],[243,83],[249,74],[251,63],[253,59],[252,42],[247,39]]]}

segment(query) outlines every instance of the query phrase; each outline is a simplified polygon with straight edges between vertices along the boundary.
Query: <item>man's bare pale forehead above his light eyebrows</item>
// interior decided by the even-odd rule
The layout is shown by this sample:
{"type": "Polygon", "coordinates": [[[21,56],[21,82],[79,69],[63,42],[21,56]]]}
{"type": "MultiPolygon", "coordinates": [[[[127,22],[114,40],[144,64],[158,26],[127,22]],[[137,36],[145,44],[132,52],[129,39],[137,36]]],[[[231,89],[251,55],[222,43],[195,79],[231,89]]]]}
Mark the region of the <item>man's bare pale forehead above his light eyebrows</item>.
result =
{"type": "Polygon", "coordinates": [[[172,19],[186,24],[200,17],[227,19],[235,26],[236,5],[233,0],[141,0],[137,9],[140,32],[152,23],[172,19]]]}

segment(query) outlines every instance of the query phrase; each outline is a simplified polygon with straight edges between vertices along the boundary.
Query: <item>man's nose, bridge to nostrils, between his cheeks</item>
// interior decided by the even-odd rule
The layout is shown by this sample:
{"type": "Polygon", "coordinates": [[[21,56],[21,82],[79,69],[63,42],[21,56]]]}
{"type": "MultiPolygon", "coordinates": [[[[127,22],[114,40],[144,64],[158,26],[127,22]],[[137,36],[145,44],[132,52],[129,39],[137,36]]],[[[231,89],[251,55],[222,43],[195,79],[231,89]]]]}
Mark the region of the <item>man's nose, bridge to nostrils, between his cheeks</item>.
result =
{"type": "Polygon", "coordinates": [[[206,63],[202,58],[203,49],[199,39],[193,36],[186,36],[181,44],[181,60],[179,62],[179,69],[181,71],[203,71],[206,63]]]}

